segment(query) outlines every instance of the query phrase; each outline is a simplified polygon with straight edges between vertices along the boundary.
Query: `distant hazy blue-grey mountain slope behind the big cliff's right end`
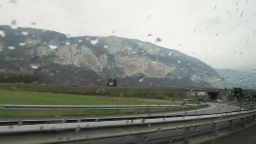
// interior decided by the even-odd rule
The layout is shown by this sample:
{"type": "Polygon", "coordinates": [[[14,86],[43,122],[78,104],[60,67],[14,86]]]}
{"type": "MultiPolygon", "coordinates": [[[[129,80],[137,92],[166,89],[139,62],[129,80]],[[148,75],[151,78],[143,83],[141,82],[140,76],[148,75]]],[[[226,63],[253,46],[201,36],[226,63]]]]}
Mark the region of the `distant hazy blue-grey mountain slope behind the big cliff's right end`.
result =
{"type": "Polygon", "coordinates": [[[223,86],[226,88],[255,88],[256,72],[240,71],[235,69],[216,69],[223,77],[223,86]]]}

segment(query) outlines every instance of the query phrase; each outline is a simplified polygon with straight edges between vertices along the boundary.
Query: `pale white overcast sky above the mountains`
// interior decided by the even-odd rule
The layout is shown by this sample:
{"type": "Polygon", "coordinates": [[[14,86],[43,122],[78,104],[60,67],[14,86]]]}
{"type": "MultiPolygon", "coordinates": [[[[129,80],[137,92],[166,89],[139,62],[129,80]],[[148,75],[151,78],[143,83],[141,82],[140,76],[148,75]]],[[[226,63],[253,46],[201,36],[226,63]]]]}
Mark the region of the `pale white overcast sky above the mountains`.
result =
{"type": "Polygon", "coordinates": [[[256,67],[256,0],[1,0],[0,24],[13,19],[72,36],[160,37],[214,68],[256,67]]]}

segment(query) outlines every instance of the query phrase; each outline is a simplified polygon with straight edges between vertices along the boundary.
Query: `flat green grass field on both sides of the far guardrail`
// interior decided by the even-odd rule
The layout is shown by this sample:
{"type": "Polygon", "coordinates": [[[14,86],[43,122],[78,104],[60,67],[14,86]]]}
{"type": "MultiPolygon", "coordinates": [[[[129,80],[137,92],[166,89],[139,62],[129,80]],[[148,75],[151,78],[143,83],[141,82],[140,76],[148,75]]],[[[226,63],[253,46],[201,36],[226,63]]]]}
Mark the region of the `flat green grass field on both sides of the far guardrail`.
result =
{"type": "MultiPolygon", "coordinates": [[[[40,104],[40,105],[153,105],[181,104],[184,101],[160,99],[119,98],[114,96],[85,96],[29,91],[0,90],[0,104],[40,104]]],[[[191,103],[186,101],[187,104],[191,103]]],[[[196,107],[193,107],[196,108],[196,107]]],[[[186,108],[188,109],[188,108],[186,108]]],[[[66,111],[0,111],[0,117],[36,117],[67,115],[120,115],[133,113],[167,112],[172,109],[128,109],[128,110],[66,110],[66,111]]]]}

